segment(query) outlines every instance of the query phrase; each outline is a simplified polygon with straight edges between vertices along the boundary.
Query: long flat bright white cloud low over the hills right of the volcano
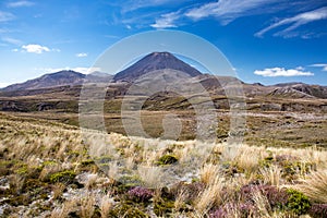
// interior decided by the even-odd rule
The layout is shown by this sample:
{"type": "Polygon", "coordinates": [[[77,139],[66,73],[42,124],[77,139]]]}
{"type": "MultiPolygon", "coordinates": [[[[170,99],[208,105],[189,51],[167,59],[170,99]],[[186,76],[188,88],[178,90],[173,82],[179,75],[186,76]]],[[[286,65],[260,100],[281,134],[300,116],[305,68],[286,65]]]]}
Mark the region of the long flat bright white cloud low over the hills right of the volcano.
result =
{"type": "Polygon", "coordinates": [[[276,77],[276,76],[310,76],[314,75],[312,72],[304,71],[302,66],[296,69],[284,69],[284,68],[271,68],[265,70],[256,70],[254,74],[262,75],[265,77],[276,77]]]}

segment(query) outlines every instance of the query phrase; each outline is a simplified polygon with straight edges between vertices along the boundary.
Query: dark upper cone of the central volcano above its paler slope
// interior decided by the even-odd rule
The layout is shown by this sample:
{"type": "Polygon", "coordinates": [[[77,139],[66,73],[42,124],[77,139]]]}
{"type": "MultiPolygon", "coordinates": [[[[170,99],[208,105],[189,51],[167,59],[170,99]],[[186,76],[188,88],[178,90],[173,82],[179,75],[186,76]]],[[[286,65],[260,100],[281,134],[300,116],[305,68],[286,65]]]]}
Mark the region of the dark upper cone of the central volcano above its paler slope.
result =
{"type": "Polygon", "coordinates": [[[181,61],[169,52],[153,52],[129,66],[128,69],[117,73],[114,81],[133,82],[140,76],[156,70],[172,69],[182,71],[191,76],[197,76],[202,73],[190,64],[181,61]]]}

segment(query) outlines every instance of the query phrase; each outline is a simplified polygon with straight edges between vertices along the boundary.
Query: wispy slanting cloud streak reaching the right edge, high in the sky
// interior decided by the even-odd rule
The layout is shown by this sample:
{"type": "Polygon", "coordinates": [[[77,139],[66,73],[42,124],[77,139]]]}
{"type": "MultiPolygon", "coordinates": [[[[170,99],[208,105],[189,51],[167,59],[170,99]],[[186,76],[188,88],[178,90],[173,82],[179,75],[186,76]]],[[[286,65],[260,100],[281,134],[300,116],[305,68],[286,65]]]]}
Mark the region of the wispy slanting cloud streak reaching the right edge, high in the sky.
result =
{"type": "Polygon", "coordinates": [[[327,19],[327,7],[316,9],[316,10],[313,10],[313,11],[308,11],[308,12],[304,12],[304,13],[298,14],[298,15],[295,15],[293,17],[290,17],[290,19],[283,19],[279,22],[276,22],[276,23],[271,24],[270,26],[257,32],[255,34],[255,36],[262,37],[268,31],[271,31],[276,27],[287,25],[287,24],[290,24],[290,26],[284,28],[281,32],[278,32],[275,35],[276,36],[286,36],[286,37],[287,36],[294,36],[294,34],[290,35],[291,31],[294,31],[295,28],[298,28],[298,27],[300,27],[304,24],[307,24],[307,23],[311,23],[311,22],[314,22],[314,21],[325,20],[325,19],[327,19]]]}

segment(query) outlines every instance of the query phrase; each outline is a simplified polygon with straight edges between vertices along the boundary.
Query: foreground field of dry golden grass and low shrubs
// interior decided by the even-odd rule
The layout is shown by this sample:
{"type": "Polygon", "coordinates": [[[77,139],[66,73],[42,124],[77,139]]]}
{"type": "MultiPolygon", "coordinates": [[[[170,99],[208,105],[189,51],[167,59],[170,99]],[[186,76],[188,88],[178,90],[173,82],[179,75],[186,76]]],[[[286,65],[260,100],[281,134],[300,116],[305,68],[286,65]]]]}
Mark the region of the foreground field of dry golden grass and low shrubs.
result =
{"type": "Polygon", "coordinates": [[[327,216],[323,147],[244,144],[227,158],[223,142],[111,133],[107,150],[94,148],[100,146],[99,133],[87,134],[1,113],[0,216],[327,216]],[[171,180],[169,171],[175,174],[171,180]]]}

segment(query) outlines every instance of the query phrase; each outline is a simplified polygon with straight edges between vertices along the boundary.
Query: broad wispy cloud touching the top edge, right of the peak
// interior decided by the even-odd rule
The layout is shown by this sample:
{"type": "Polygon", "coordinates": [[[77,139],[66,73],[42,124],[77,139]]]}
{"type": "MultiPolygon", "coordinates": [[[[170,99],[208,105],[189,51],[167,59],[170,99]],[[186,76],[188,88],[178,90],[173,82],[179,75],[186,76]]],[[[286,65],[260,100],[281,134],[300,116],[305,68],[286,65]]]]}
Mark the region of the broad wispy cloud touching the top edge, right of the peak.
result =
{"type": "Polygon", "coordinates": [[[271,3],[272,1],[274,0],[219,0],[217,2],[203,4],[199,8],[191,9],[185,13],[185,15],[193,20],[215,16],[226,25],[237,17],[246,15],[250,10],[263,4],[271,3]]]}

